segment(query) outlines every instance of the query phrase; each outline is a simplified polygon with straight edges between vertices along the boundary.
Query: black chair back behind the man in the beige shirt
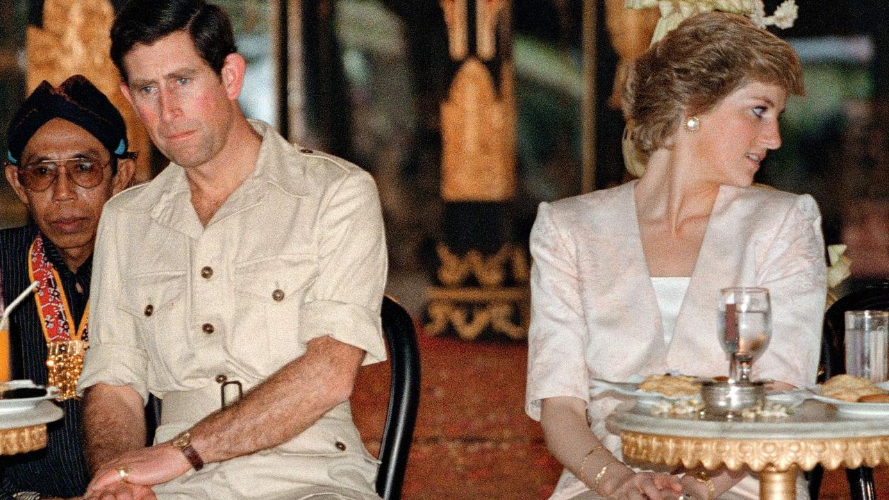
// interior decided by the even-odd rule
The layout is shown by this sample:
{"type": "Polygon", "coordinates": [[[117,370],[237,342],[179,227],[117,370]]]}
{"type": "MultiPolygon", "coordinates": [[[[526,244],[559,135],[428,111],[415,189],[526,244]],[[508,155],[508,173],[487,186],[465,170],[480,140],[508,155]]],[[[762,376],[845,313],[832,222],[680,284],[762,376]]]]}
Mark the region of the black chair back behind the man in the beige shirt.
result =
{"type": "Polygon", "coordinates": [[[413,320],[398,302],[383,297],[380,316],[388,343],[392,380],[386,425],[380,440],[377,494],[383,500],[398,500],[420,405],[420,349],[413,320]]]}

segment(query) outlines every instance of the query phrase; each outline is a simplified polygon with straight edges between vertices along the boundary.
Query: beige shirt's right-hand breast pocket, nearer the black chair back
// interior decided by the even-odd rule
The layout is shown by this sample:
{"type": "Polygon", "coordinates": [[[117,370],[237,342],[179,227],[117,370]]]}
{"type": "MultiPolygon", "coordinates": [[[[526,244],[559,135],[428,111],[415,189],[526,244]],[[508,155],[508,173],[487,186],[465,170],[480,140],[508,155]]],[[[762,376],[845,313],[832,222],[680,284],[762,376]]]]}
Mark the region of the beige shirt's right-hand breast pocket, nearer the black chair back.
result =
{"type": "Polygon", "coordinates": [[[236,317],[255,319],[244,327],[250,328],[250,335],[265,334],[273,370],[305,352],[299,342],[300,308],[316,275],[314,254],[276,255],[234,267],[236,317]]]}

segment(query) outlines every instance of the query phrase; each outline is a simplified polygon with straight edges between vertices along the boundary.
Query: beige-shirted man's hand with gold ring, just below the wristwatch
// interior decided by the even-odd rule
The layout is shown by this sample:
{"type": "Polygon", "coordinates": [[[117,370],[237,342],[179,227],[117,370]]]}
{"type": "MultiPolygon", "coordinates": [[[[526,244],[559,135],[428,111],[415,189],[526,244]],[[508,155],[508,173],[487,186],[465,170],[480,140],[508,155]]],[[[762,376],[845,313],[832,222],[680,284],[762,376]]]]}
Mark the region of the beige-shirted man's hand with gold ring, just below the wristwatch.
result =
{"type": "MultiPolygon", "coordinates": [[[[178,478],[189,469],[191,469],[191,464],[188,463],[188,459],[182,455],[180,450],[173,448],[170,443],[132,450],[100,466],[92,477],[90,486],[86,488],[84,500],[92,500],[93,494],[116,483],[124,482],[150,487],[178,478]],[[127,472],[125,478],[122,477],[121,470],[127,472]]],[[[154,495],[152,494],[151,497],[153,498],[154,495]]],[[[95,498],[104,498],[104,496],[95,498]]],[[[109,496],[108,498],[128,500],[126,496],[109,496]]],[[[141,496],[132,498],[137,500],[141,496]]]]}

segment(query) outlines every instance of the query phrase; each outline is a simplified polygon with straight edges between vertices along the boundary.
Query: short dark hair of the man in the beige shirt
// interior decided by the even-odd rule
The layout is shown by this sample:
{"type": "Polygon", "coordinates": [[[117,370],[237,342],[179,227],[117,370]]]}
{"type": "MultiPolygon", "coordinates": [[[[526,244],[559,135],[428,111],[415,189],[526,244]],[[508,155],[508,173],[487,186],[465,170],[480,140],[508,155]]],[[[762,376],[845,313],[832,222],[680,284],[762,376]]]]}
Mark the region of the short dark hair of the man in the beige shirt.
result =
{"type": "Polygon", "coordinates": [[[130,0],[111,27],[111,60],[124,82],[124,56],[135,44],[154,44],[175,31],[191,36],[198,55],[220,75],[225,58],[237,52],[228,14],[204,0],[130,0]]]}

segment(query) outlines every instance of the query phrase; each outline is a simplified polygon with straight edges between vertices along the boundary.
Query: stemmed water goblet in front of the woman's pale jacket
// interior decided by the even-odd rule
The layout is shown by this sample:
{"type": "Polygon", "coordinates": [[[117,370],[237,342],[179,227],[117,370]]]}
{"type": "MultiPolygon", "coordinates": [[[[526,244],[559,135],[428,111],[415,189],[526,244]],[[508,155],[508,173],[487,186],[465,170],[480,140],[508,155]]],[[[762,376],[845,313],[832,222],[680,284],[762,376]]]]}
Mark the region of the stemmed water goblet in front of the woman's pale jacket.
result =
{"type": "Polygon", "coordinates": [[[772,337],[772,304],[769,291],[749,286],[719,291],[719,340],[731,364],[729,377],[749,382],[753,361],[768,347],[772,337]]]}

